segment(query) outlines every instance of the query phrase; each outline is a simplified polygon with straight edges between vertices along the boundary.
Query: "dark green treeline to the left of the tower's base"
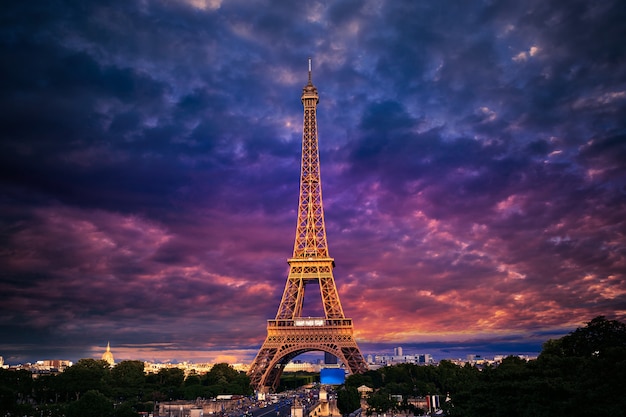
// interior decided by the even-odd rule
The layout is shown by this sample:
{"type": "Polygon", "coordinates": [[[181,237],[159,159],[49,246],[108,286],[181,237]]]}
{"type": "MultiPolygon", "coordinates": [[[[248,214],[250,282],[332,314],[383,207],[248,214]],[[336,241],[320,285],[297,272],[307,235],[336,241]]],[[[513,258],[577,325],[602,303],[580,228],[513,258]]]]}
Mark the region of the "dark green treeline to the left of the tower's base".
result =
{"type": "Polygon", "coordinates": [[[27,370],[0,369],[0,417],[136,417],[155,401],[252,394],[250,378],[232,366],[214,365],[203,375],[185,377],[182,369],[144,373],[141,361],[81,359],[58,375],[33,379],[27,370]]]}

